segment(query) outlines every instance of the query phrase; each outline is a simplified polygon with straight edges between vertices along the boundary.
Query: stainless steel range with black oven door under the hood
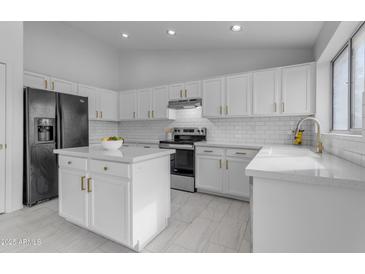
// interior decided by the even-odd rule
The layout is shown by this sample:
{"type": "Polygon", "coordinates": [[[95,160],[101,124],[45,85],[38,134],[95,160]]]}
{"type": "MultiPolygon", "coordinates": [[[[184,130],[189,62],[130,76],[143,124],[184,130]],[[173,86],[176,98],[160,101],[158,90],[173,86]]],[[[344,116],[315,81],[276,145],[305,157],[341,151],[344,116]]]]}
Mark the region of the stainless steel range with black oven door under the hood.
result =
{"type": "Polygon", "coordinates": [[[174,128],[173,140],[160,148],[176,149],[171,155],[171,188],[195,192],[195,142],[205,141],[206,128],[174,128]]]}

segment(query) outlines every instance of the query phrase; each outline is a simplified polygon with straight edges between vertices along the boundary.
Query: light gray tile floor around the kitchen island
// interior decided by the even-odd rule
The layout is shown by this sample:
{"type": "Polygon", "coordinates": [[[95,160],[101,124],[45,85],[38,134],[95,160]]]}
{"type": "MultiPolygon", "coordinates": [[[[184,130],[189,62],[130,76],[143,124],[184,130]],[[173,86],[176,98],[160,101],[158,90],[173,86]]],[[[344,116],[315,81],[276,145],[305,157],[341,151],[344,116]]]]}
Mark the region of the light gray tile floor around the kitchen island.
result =
{"type": "MultiPolygon", "coordinates": [[[[0,252],[133,252],[65,221],[57,211],[58,200],[52,200],[0,215],[0,252]]],[[[169,226],[144,252],[249,252],[249,243],[248,203],[171,190],[169,226]]]]}

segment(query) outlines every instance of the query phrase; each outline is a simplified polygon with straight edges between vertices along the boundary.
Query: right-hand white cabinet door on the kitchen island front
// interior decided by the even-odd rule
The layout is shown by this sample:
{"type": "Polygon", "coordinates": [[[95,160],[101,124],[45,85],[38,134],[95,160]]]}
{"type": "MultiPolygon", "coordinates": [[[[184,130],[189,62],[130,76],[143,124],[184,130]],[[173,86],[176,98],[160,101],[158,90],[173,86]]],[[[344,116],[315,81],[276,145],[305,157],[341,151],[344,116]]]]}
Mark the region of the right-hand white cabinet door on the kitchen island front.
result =
{"type": "Polygon", "coordinates": [[[90,229],[129,244],[129,182],[91,174],[90,229]]]}

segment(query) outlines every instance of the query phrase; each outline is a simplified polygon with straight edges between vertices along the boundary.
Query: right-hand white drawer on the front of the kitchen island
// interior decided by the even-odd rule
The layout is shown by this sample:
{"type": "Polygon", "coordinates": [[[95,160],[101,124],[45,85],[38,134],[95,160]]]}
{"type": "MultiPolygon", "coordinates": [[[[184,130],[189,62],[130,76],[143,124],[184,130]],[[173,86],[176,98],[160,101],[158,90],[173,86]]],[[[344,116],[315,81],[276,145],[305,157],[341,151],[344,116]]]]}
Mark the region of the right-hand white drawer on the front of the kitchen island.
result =
{"type": "Polygon", "coordinates": [[[105,175],[129,178],[129,165],[108,161],[90,160],[90,171],[105,175]]]}

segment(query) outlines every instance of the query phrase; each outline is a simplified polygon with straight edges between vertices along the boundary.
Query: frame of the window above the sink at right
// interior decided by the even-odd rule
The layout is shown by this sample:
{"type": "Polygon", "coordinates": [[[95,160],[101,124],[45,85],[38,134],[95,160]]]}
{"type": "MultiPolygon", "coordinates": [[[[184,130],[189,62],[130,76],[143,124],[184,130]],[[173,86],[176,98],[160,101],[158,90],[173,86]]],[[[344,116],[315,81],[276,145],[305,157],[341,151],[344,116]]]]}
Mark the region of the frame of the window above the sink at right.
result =
{"type": "Polygon", "coordinates": [[[360,29],[365,28],[365,22],[359,24],[350,38],[346,41],[346,43],[341,47],[341,49],[336,53],[336,55],[331,60],[331,132],[340,133],[340,134],[350,134],[350,135],[361,135],[363,128],[353,128],[352,123],[352,107],[353,107],[353,98],[352,98],[352,40],[356,36],[356,34],[360,31],[360,29]],[[348,48],[348,129],[340,130],[334,129],[334,64],[337,58],[348,48]]]}

